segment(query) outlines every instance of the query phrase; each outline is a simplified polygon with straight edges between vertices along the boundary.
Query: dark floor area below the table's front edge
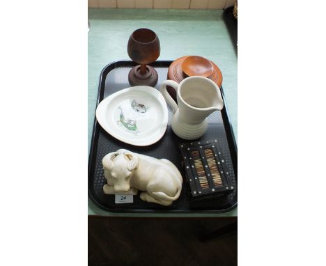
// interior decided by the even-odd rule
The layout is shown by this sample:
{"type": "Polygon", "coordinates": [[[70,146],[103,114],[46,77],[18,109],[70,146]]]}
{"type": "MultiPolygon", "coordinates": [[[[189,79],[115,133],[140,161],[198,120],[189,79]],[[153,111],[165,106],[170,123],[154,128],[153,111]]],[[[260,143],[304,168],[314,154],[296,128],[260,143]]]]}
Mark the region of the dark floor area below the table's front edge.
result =
{"type": "Polygon", "coordinates": [[[206,242],[235,219],[88,217],[88,265],[237,265],[237,234],[206,242]]]}

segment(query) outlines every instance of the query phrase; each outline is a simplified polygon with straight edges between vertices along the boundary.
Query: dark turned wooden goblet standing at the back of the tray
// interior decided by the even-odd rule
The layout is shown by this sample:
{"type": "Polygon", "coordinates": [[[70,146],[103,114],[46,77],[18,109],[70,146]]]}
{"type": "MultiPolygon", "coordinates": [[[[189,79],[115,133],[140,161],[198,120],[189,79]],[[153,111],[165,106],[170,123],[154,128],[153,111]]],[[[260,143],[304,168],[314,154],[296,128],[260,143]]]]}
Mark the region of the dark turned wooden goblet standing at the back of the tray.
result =
{"type": "Polygon", "coordinates": [[[129,83],[132,86],[155,86],[158,75],[148,64],[160,56],[160,40],[156,33],[150,29],[137,29],[129,38],[127,51],[132,61],[140,64],[130,70],[129,83]]]}

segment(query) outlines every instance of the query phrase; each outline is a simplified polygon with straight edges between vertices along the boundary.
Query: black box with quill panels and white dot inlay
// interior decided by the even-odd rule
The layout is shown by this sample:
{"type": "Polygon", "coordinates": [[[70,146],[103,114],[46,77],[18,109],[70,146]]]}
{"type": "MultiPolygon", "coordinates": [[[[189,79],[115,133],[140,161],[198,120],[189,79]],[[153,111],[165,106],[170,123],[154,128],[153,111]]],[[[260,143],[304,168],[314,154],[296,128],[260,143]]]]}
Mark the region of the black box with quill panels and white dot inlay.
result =
{"type": "Polygon", "coordinates": [[[182,143],[179,148],[190,201],[227,196],[235,190],[217,140],[182,143]]]}

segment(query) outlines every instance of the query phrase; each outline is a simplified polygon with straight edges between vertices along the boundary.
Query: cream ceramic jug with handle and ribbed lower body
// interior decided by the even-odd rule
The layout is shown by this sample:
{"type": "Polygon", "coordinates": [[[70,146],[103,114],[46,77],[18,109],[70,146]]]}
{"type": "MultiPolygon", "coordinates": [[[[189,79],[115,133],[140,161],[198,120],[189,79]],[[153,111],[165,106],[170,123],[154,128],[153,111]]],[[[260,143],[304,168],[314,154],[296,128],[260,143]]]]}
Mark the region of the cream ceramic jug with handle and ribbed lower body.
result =
{"type": "Polygon", "coordinates": [[[213,111],[222,110],[221,91],[214,81],[205,77],[187,77],[176,83],[173,80],[162,82],[160,91],[173,109],[171,127],[182,139],[198,139],[207,130],[206,118],[213,111]],[[166,91],[166,86],[176,90],[178,104],[166,91]]]}

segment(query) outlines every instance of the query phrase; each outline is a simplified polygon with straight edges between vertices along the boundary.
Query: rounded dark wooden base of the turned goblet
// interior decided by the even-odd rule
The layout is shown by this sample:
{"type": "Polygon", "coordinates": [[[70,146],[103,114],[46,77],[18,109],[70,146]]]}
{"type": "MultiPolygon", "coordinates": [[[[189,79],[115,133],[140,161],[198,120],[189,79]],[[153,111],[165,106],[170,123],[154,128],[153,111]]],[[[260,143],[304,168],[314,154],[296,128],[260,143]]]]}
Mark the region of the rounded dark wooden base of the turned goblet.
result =
{"type": "Polygon", "coordinates": [[[146,73],[141,74],[141,65],[136,65],[132,68],[128,75],[128,80],[131,86],[155,86],[157,84],[158,75],[156,70],[150,65],[146,65],[146,73]]]}

